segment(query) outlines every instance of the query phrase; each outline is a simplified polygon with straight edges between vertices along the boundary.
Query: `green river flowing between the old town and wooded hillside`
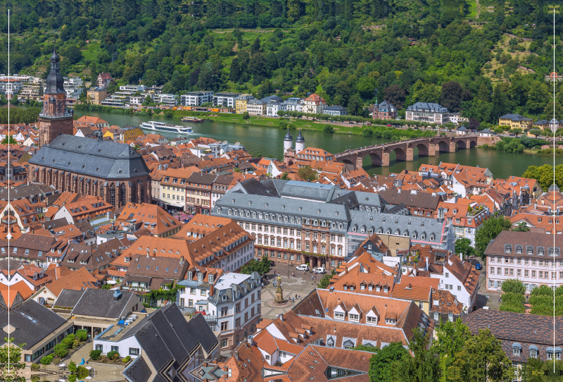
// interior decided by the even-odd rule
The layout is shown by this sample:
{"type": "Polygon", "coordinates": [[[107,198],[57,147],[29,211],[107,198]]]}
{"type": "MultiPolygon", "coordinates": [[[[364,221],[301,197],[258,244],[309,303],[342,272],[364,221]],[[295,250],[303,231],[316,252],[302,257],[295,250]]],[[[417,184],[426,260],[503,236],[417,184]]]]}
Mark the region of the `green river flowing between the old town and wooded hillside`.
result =
{"type": "MultiPolygon", "coordinates": [[[[166,121],[172,120],[162,116],[132,116],[112,113],[95,113],[92,111],[75,111],[77,116],[96,116],[107,121],[110,125],[139,125],[144,121],[166,121]]],[[[179,123],[177,119],[173,120],[179,123]]],[[[281,159],[284,154],[284,135],[286,130],[277,128],[267,128],[260,126],[244,126],[231,123],[217,123],[215,121],[205,121],[203,123],[181,123],[191,125],[194,133],[191,135],[175,135],[160,133],[172,139],[175,137],[210,137],[216,140],[227,140],[229,142],[240,142],[253,154],[253,156],[267,156],[270,158],[281,159]]],[[[154,131],[146,130],[146,133],[154,131]]],[[[295,140],[298,132],[291,132],[295,140]]],[[[382,138],[365,138],[358,135],[326,134],[317,131],[303,131],[305,137],[305,147],[318,147],[332,154],[343,152],[345,149],[367,146],[375,143],[388,142],[382,138]]],[[[405,170],[417,170],[422,164],[438,164],[439,162],[459,163],[467,166],[487,167],[495,178],[507,178],[510,175],[522,175],[526,168],[531,165],[541,166],[552,164],[550,156],[538,156],[531,154],[512,154],[507,152],[497,152],[486,149],[460,150],[455,153],[443,153],[439,156],[418,156],[415,149],[415,160],[396,161],[395,154],[391,154],[389,167],[372,167],[369,156],[364,160],[364,168],[370,174],[387,175],[388,173],[398,173],[405,170]]],[[[555,164],[563,164],[563,157],[558,156],[555,164]]]]}

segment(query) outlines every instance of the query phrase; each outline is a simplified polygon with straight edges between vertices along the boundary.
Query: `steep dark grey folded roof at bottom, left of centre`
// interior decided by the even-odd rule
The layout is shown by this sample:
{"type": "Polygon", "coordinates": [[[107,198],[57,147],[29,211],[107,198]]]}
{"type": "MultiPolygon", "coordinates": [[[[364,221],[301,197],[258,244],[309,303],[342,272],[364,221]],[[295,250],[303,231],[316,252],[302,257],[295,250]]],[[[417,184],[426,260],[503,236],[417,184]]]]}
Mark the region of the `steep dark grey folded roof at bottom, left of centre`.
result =
{"type": "Polygon", "coordinates": [[[137,325],[134,336],[143,348],[143,356],[124,371],[132,382],[156,382],[163,380],[170,366],[175,369],[172,381],[181,381],[176,374],[182,371],[190,354],[201,345],[210,354],[217,346],[217,337],[201,314],[196,314],[189,321],[184,319],[177,304],[169,304],[147,316],[137,325]],[[146,372],[147,357],[157,371],[151,378],[146,372]]]}

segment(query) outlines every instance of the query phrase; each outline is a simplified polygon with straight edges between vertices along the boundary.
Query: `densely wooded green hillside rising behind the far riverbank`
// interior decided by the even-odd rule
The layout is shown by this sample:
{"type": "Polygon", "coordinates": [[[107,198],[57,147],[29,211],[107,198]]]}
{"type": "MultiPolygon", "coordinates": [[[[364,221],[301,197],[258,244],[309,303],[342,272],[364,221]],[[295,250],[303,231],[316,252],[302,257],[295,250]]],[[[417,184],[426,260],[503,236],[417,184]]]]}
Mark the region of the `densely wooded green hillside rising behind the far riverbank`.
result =
{"type": "MultiPolygon", "coordinates": [[[[13,6],[12,73],[108,71],[165,92],[317,92],[365,113],[440,102],[481,123],[550,116],[552,11],[563,71],[562,1],[28,0],[13,6]]],[[[7,32],[6,12],[0,27],[7,32]]],[[[5,36],[0,73],[7,72],[5,36]]],[[[559,92],[559,89],[557,89],[559,92]]],[[[559,94],[560,95],[560,94],[559,94]]],[[[559,119],[563,118],[557,104],[559,119]]],[[[484,124],[483,124],[484,126],[484,124]]]]}

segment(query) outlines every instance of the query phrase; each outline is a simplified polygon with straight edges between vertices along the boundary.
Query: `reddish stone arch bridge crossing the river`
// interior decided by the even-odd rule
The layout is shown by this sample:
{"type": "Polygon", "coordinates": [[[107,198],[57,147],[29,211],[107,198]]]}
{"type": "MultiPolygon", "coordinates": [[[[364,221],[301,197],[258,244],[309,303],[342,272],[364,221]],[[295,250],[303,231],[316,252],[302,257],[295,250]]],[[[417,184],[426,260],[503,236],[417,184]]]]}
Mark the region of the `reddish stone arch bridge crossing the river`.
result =
{"type": "Polygon", "coordinates": [[[389,154],[395,152],[398,161],[412,161],[415,147],[419,156],[437,156],[441,152],[456,152],[457,149],[471,149],[477,146],[477,135],[457,137],[421,137],[398,142],[374,144],[358,149],[346,150],[334,155],[334,160],[346,164],[348,168],[361,168],[364,158],[372,158],[372,166],[389,166],[389,154]]]}

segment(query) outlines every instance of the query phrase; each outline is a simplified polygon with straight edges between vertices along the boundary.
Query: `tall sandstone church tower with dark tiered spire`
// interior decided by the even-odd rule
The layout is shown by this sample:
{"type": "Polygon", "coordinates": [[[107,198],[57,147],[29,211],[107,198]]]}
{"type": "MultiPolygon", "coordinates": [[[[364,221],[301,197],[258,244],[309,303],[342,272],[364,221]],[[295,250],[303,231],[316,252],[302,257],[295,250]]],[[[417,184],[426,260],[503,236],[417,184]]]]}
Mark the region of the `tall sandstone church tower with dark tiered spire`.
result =
{"type": "Polygon", "coordinates": [[[39,113],[39,146],[53,142],[61,134],[72,135],[72,109],[66,107],[63,76],[58,66],[58,54],[53,47],[51,71],[47,75],[43,109],[39,113]]]}

